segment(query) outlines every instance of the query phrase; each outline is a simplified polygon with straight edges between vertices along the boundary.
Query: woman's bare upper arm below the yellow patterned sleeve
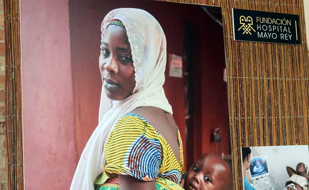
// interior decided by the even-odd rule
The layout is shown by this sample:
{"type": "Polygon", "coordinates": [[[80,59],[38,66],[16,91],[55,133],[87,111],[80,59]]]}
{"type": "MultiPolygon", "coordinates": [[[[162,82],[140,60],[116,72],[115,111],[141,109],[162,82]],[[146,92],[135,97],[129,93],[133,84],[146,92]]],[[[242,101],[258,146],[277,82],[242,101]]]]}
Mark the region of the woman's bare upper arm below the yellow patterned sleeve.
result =
{"type": "Polygon", "coordinates": [[[120,190],[155,190],[155,181],[143,181],[132,176],[118,175],[120,190]]]}

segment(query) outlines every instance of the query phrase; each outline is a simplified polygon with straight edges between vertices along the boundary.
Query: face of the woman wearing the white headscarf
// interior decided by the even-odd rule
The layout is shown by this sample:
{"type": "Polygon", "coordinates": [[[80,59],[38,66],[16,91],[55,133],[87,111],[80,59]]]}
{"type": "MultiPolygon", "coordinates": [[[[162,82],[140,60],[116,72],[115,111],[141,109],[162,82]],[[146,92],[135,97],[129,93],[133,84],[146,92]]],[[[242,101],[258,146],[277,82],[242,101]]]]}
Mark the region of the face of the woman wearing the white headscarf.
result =
{"type": "Polygon", "coordinates": [[[105,30],[99,67],[104,90],[109,99],[123,100],[135,87],[135,71],[125,28],[109,25],[105,30]]]}

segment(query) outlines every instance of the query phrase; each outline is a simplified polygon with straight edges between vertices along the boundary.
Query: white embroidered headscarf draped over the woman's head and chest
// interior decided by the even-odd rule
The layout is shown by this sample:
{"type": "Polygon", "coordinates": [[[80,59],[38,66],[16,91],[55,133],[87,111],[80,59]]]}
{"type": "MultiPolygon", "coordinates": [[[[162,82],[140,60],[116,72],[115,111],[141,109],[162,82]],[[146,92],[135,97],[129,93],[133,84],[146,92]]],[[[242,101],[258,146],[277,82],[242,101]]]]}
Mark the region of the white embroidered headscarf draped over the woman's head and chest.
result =
{"type": "Polygon", "coordinates": [[[101,38],[110,20],[125,26],[133,59],[136,85],[133,95],[117,102],[105,114],[107,97],[102,88],[99,124],[88,140],[79,159],[70,190],[93,190],[95,178],[105,164],[104,145],[117,121],[141,106],[159,107],[172,114],[163,83],[166,65],[166,38],[159,22],[141,9],[122,8],[109,12],[101,25],[101,38]],[[105,110],[105,111],[104,111],[105,110]]]}

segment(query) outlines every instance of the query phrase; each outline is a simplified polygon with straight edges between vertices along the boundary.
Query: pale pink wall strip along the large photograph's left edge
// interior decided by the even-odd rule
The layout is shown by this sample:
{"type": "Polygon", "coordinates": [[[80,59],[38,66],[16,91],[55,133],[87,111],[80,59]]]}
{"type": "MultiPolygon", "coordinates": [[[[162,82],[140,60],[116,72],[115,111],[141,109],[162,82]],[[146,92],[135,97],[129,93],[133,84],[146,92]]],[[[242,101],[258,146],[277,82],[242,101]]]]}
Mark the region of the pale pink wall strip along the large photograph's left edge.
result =
{"type": "Polygon", "coordinates": [[[25,190],[69,189],[78,156],[68,1],[20,5],[25,190]]]}

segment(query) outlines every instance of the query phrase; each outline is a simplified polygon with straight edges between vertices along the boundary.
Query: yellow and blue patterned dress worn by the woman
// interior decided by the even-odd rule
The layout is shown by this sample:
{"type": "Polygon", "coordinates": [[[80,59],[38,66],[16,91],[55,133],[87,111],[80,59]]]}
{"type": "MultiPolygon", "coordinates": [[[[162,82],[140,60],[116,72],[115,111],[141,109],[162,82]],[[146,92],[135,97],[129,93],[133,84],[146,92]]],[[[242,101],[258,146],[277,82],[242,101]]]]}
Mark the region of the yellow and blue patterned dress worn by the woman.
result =
{"type": "Polygon", "coordinates": [[[156,190],[183,190],[184,159],[180,133],[180,163],[160,132],[145,118],[128,113],[111,132],[105,147],[106,165],[96,178],[95,190],[118,190],[118,175],[155,180],[156,190]]]}

